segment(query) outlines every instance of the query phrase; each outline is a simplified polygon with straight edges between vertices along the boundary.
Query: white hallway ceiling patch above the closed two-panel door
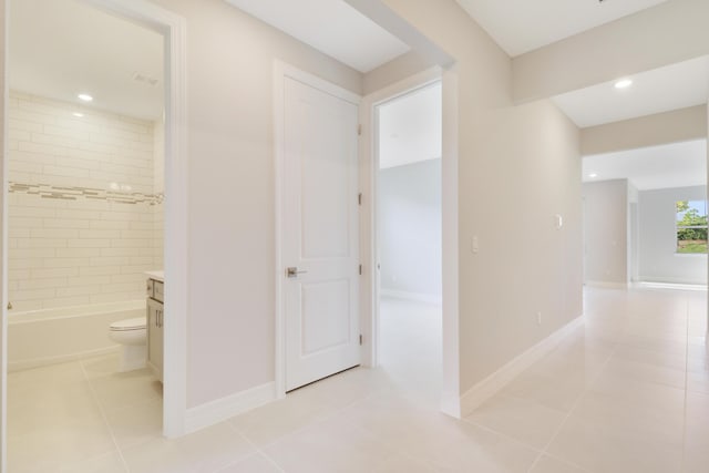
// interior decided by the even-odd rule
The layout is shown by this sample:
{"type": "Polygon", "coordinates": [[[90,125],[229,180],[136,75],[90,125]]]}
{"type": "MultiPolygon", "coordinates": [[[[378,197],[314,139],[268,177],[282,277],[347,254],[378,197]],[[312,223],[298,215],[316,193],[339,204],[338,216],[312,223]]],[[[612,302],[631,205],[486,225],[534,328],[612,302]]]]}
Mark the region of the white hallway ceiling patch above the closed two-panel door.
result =
{"type": "Polygon", "coordinates": [[[226,1],[362,73],[410,49],[343,0],[226,1]]]}

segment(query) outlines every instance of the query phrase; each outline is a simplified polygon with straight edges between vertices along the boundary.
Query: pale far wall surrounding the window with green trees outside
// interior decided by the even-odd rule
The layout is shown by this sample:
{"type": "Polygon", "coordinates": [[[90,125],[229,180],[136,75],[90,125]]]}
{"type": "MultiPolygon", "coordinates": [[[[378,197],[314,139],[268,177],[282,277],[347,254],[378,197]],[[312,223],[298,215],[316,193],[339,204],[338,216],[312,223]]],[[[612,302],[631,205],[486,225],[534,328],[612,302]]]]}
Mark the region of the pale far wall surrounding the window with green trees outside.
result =
{"type": "Polygon", "coordinates": [[[703,200],[706,186],[639,193],[639,277],[643,281],[707,284],[707,255],[678,255],[676,203],[703,200]]]}

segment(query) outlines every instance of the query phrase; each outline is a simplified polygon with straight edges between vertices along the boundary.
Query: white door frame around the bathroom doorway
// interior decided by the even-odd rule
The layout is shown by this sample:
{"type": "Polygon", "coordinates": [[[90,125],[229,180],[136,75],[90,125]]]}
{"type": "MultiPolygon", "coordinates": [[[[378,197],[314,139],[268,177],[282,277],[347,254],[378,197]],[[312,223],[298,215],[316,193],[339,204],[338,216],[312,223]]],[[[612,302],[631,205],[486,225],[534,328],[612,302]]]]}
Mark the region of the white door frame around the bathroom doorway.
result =
{"type": "MultiPolygon", "coordinates": [[[[146,0],[84,0],[88,3],[114,13],[126,20],[136,21],[165,38],[165,307],[169,311],[169,320],[165,323],[165,360],[163,391],[163,434],[168,438],[179,436],[185,431],[187,411],[187,307],[188,307],[188,218],[187,218],[187,41],[186,21],[184,18],[165,10],[146,0]]],[[[4,7],[4,97],[7,116],[8,101],[8,10],[4,7]]],[[[7,120],[4,121],[7,123],[7,120]]],[[[7,130],[4,132],[7,136],[7,130]]],[[[7,140],[4,156],[8,156],[7,140]]],[[[7,158],[3,160],[7,168],[7,158]]],[[[3,173],[3,206],[6,208],[2,239],[3,247],[8,243],[7,222],[7,173],[3,173]]],[[[7,251],[2,261],[2,462],[4,471],[6,455],[6,413],[7,405],[7,251]]]]}

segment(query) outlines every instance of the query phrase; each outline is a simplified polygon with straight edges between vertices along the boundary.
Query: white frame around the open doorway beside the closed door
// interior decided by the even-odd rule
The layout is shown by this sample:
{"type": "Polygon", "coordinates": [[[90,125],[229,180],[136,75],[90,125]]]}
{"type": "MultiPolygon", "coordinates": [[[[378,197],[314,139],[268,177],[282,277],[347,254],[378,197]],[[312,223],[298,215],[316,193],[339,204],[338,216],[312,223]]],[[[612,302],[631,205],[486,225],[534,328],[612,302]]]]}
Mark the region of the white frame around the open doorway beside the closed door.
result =
{"type": "Polygon", "coordinates": [[[442,143],[442,243],[443,243],[443,380],[441,410],[455,418],[460,408],[460,350],[459,350],[459,236],[458,236],[458,74],[453,69],[439,66],[414,74],[377,91],[363,99],[360,113],[362,142],[360,147],[361,188],[364,195],[361,212],[361,257],[364,264],[361,289],[361,330],[364,337],[362,364],[379,366],[379,271],[377,270],[377,191],[378,143],[377,106],[433,82],[443,90],[442,143]]]}

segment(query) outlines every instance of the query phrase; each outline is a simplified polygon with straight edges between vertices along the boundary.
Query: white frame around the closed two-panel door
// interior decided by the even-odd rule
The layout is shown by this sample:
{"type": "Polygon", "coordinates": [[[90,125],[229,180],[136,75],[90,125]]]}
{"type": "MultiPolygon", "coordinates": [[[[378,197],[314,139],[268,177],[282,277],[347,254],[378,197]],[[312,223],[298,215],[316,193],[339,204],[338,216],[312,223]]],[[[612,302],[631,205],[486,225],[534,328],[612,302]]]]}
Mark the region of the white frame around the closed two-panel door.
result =
{"type": "MultiPolygon", "coordinates": [[[[274,158],[276,169],[276,267],[275,267],[275,287],[276,287],[276,398],[281,399],[286,397],[286,308],[284,290],[284,258],[281,253],[281,244],[284,241],[284,167],[285,167],[285,150],[284,150],[284,136],[285,136],[285,123],[284,123],[284,106],[285,95],[284,88],[286,78],[295,79],[298,82],[311,85],[316,89],[325,91],[333,96],[343,99],[353,104],[360,104],[361,97],[347,89],[325,81],[316,75],[305,72],[298,68],[295,68],[284,61],[274,61],[274,158]]],[[[352,130],[356,133],[356,130],[352,130]]],[[[360,141],[361,144],[361,141],[360,141]]],[[[361,148],[361,145],[359,146],[361,148]]],[[[361,186],[361,184],[360,184],[361,186]]],[[[361,214],[361,213],[360,213],[361,214]]],[[[361,230],[360,230],[361,235],[361,230]]],[[[362,286],[360,281],[360,287],[362,286]]],[[[360,289],[361,291],[361,289],[360,289]]],[[[360,356],[361,357],[361,356],[360,356]]]]}

